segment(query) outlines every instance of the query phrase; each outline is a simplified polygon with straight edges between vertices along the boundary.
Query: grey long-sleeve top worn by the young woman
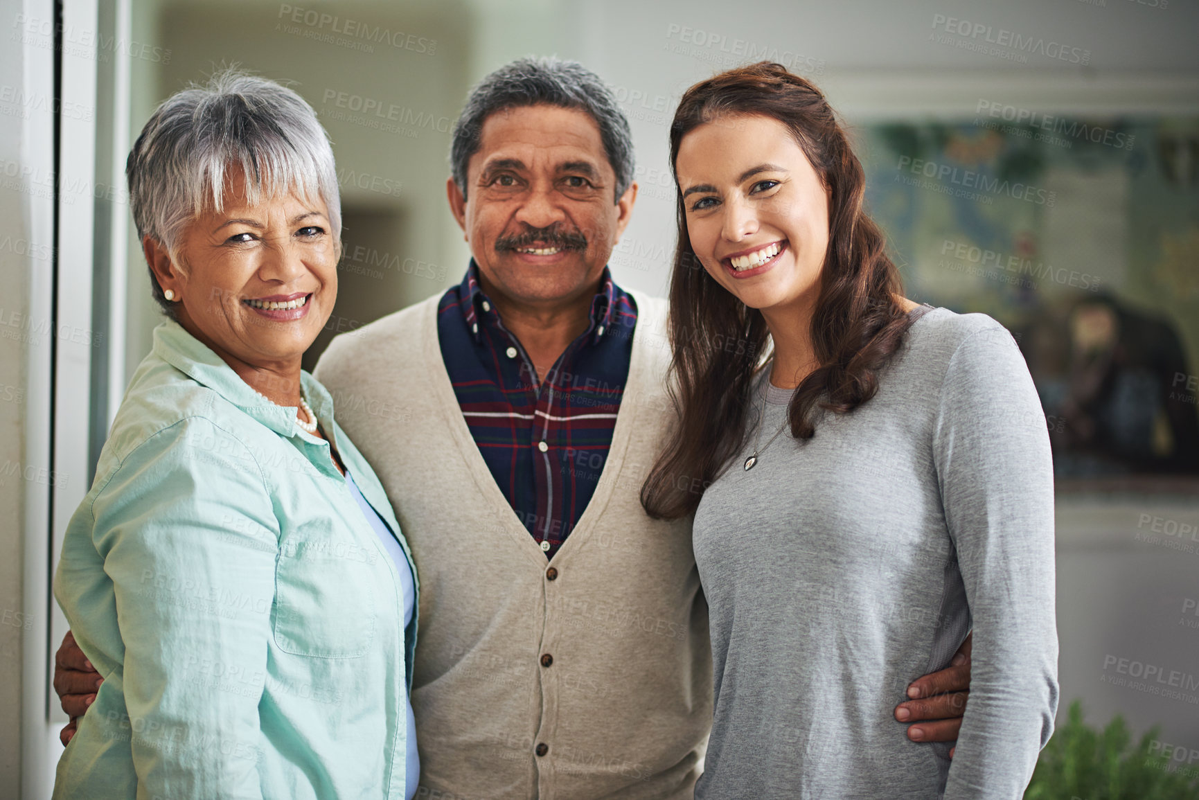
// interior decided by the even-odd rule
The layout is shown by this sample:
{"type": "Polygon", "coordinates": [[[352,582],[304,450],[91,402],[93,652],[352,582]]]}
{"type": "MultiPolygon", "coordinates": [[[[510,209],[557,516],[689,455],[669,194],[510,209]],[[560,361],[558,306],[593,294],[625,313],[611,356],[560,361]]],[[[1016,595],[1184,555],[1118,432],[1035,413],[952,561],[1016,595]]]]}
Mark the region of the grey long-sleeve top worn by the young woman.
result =
{"type": "MultiPolygon", "coordinates": [[[[769,387],[763,444],[790,393],[769,387]]],[[[1049,440],[1011,335],[929,311],[874,398],[746,471],[749,439],[695,513],[716,676],[695,796],[1020,798],[1053,730],[1058,636],[1049,440]],[[893,709],[971,622],[951,762],[893,709]]]]}

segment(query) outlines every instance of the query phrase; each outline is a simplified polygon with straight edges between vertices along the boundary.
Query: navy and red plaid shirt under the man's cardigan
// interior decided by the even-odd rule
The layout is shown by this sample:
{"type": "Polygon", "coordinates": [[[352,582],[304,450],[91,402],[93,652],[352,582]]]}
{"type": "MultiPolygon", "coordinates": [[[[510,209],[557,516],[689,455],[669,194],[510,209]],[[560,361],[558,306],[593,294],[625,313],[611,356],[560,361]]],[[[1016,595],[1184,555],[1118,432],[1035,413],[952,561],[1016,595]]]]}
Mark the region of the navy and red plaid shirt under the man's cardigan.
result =
{"type": "Polygon", "coordinates": [[[471,260],[438,305],[441,360],[496,486],[547,558],[574,529],[608,458],[633,353],[637,306],[604,267],[591,324],[544,383],[504,327],[471,260]]]}

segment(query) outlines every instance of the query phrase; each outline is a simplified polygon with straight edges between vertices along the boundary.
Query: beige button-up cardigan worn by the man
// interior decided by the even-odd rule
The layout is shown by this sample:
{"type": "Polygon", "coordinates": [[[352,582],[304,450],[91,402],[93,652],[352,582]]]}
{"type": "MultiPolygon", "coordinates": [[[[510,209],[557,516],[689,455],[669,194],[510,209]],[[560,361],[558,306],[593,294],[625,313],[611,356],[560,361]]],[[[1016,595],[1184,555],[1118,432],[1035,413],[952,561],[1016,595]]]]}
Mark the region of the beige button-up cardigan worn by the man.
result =
{"type": "Polygon", "coordinates": [[[712,720],[707,607],[691,521],[652,521],[638,498],[673,411],[665,302],[633,297],[611,450],[552,561],[462,416],[439,297],[337,337],[317,367],[421,578],[420,798],[692,796],[712,720]]]}

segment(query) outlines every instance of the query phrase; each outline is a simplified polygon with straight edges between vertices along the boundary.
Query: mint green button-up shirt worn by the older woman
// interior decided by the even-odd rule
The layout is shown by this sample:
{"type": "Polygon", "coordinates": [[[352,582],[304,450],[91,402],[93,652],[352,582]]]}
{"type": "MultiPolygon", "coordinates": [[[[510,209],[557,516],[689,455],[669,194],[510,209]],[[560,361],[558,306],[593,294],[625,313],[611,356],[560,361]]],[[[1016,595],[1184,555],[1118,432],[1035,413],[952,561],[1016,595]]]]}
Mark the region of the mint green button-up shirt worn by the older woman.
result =
{"type": "MultiPolygon", "coordinates": [[[[329,392],[302,384],[411,566],[329,392]]],[[[133,375],[54,594],[104,676],[55,798],[410,794],[416,614],[405,630],[396,563],[329,443],[175,323],[133,375]]]]}

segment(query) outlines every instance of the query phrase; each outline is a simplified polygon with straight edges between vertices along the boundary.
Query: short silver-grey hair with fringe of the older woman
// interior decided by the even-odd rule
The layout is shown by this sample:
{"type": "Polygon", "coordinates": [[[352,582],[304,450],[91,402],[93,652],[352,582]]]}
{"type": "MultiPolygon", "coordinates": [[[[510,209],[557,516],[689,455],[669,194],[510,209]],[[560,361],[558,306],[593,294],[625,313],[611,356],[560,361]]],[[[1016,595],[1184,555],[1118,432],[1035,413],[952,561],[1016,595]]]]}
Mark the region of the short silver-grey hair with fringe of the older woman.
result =
{"type": "MultiPolygon", "coordinates": [[[[188,223],[206,209],[221,210],[230,167],[245,173],[251,203],[288,191],[319,196],[333,241],[341,241],[337,167],[317,113],[291,89],[237,70],[171,95],[141,128],[125,164],[138,237],[150,236],[174,258],[188,223]]],[[[150,283],[174,317],[152,270],[150,283]]]]}

